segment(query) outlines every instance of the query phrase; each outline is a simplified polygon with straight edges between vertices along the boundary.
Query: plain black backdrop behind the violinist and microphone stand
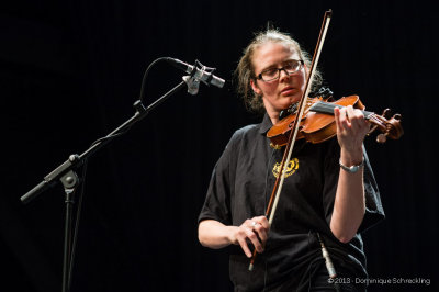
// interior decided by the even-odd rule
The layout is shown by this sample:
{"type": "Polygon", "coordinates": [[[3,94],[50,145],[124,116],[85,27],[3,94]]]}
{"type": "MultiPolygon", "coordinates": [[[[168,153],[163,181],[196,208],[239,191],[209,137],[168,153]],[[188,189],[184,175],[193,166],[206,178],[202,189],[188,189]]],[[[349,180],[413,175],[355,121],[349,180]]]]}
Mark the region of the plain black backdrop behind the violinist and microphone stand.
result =
{"type": "MultiPolygon", "coordinates": [[[[71,291],[232,291],[225,251],[196,238],[215,161],[235,130],[260,120],[236,97],[232,72],[268,21],[313,53],[329,8],[327,85],[368,110],[399,112],[405,130],[396,142],[365,142],[387,216],[363,236],[370,276],[430,281],[369,290],[437,290],[432,4],[16,0],[0,10],[0,291],[61,290],[64,190],[20,198],[131,117],[145,69],[162,56],[199,59],[227,83],[181,90],[89,160],[71,291]]],[[[182,75],[157,64],[145,105],[182,75]]]]}

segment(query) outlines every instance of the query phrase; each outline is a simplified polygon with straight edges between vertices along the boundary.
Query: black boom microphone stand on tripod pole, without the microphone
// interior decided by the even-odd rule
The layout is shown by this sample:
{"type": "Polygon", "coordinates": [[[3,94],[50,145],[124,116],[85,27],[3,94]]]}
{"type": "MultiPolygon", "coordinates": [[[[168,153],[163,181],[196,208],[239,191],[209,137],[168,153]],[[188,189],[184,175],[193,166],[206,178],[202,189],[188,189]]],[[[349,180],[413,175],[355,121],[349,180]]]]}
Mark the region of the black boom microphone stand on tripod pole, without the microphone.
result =
{"type": "Polygon", "coordinates": [[[181,88],[184,87],[184,85],[188,85],[189,93],[196,94],[199,83],[200,83],[199,80],[196,80],[193,77],[193,74],[191,74],[190,76],[184,76],[183,81],[181,81],[178,86],[169,90],[167,93],[157,99],[147,108],[145,108],[142,104],[142,100],[137,100],[133,104],[136,112],[130,120],[120,125],[117,128],[115,128],[105,137],[99,139],[97,143],[91,145],[91,147],[81,155],[70,155],[67,161],[55,168],[55,170],[53,170],[50,173],[44,177],[44,180],[42,182],[40,182],[36,187],[34,187],[32,190],[30,190],[27,193],[21,196],[20,200],[23,203],[29,203],[32,200],[34,200],[37,195],[40,195],[42,192],[46,191],[50,187],[54,187],[59,181],[64,186],[64,190],[66,193],[65,194],[66,222],[65,222],[65,235],[64,235],[63,292],[70,291],[70,276],[71,276],[70,269],[72,268],[72,250],[74,250],[71,242],[72,209],[75,204],[74,201],[75,191],[78,184],[80,183],[80,179],[78,175],[75,172],[75,170],[81,165],[83,165],[92,154],[101,149],[103,146],[108,145],[110,142],[113,141],[113,138],[124,134],[135,123],[143,120],[149,113],[149,111],[151,111],[161,102],[164,102],[167,98],[179,91],[181,88]]]}

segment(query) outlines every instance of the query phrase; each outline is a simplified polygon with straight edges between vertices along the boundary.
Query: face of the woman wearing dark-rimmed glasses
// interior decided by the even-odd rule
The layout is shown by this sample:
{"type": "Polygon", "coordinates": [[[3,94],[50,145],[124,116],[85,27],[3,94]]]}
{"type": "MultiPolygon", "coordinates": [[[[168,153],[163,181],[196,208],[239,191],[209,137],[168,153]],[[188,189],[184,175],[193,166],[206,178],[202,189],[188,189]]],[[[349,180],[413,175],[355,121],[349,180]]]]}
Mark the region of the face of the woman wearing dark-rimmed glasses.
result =
{"type": "MultiPolygon", "coordinates": [[[[282,43],[267,43],[255,50],[251,61],[255,75],[258,76],[268,68],[282,68],[291,59],[301,59],[291,46],[282,43]]],[[[260,79],[250,81],[252,90],[262,96],[270,117],[277,119],[282,110],[301,100],[306,85],[305,69],[302,67],[292,75],[281,70],[279,79],[269,82],[260,79]]]]}

